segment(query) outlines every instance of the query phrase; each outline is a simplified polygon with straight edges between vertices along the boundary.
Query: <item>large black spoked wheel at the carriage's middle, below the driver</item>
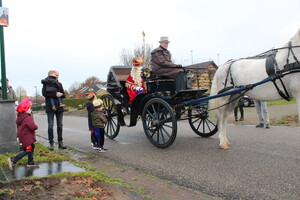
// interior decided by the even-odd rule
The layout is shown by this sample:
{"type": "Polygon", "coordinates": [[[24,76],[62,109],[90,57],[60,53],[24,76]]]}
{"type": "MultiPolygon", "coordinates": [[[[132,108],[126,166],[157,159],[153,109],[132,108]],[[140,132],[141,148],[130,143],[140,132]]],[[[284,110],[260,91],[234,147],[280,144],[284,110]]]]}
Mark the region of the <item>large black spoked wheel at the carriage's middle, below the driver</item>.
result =
{"type": "Polygon", "coordinates": [[[167,148],[175,141],[177,122],[172,107],[162,99],[147,102],[142,114],[145,134],[158,148],[167,148]]]}

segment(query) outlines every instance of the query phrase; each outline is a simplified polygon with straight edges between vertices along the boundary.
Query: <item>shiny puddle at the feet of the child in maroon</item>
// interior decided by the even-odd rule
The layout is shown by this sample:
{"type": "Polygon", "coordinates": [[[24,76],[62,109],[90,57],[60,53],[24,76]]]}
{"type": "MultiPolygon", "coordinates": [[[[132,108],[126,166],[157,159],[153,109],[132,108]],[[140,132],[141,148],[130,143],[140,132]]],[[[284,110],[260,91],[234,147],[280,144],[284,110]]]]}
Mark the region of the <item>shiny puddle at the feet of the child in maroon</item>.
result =
{"type": "Polygon", "coordinates": [[[8,167],[0,168],[0,181],[6,182],[24,177],[37,176],[44,177],[61,172],[83,172],[84,169],[77,167],[69,162],[40,163],[40,167],[28,168],[25,165],[16,165],[14,171],[8,167]]]}

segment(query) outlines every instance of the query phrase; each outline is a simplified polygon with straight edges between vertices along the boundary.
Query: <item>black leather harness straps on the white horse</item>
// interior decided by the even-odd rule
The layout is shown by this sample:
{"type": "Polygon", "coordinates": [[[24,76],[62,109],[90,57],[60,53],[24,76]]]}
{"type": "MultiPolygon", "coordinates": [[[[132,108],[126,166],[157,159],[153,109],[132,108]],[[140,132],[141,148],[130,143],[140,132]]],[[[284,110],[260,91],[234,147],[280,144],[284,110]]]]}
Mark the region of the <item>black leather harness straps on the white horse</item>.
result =
{"type": "MultiPolygon", "coordinates": [[[[269,77],[272,77],[272,82],[278,92],[278,94],[285,100],[287,101],[290,101],[292,98],[291,96],[289,95],[283,81],[282,81],[282,78],[287,75],[287,74],[291,74],[291,73],[296,73],[296,72],[300,72],[300,63],[299,63],[299,60],[297,59],[294,51],[293,51],[293,48],[299,48],[300,46],[292,46],[292,43],[291,41],[289,42],[288,44],[288,47],[282,47],[282,48],[277,48],[277,49],[272,49],[270,51],[267,51],[267,52],[264,52],[258,56],[255,56],[255,57],[249,57],[249,58],[246,58],[246,59],[253,59],[253,58],[266,58],[266,72],[267,74],[269,75],[269,77]],[[278,64],[277,64],[277,61],[276,61],[276,53],[278,52],[278,50],[280,49],[288,49],[288,55],[287,55],[287,59],[286,59],[286,65],[284,65],[284,68],[282,70],[280,70],[278,68],[278,64]],[[289,56],[290,54],[293,55],[293,58],[295,60],[294,63],[289,63],[289,56]],[[276,80],[279,79],[280,80],[280,83],[283,87],[283,91],[281,91],[277,85],[277,82],[276,80]]],[[[234,81],[233,81],[233,78],[232,78],[232,73],[231,73],[231,66],[233,65],[234,62],[236,62],[238,60],[232,60],[229,67],[228,67],[228,71],[227,71],[227,75],[226,75],[226,79],[225,79],[225,83],[224,83],[224,88],[219,91],[219,93],[222,93],[222,92],[225,92],[227,90],[230,90],[232,88],[241,88],[241,87],[244,87],[244,86],[235,86],[234,84],[234,81]],[[230,77],[230,83],[232,86],[229,86],[229,87],[226,87],[227,85],[227,82],[228,82],[228,78],[230,77]]],[[[252,89],[251,87],[249,87],[249,89],[252,89]]]]}

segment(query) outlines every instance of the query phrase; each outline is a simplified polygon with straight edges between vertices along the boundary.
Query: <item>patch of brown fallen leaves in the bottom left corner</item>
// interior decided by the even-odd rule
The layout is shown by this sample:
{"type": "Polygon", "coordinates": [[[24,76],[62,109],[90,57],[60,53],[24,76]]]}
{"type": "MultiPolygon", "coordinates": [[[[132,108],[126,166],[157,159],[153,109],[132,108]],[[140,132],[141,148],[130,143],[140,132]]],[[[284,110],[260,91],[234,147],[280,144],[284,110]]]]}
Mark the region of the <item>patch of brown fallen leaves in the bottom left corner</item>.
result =
{"type": "MultiPolygon", "coordinates": [[[[113,196],[102,187],[102,183],[94,182],[90,177],[74,176],[70,178],[40,178],[36,180],[17,180],[10,182],[7,189],[0,189],[1,197],[13,199],[106,199],[113,196]]],[[[4,186],[4,185],[3,185],[4,186]]],[[[1,199],[1,198],[0,198],[1,199]]]]}

